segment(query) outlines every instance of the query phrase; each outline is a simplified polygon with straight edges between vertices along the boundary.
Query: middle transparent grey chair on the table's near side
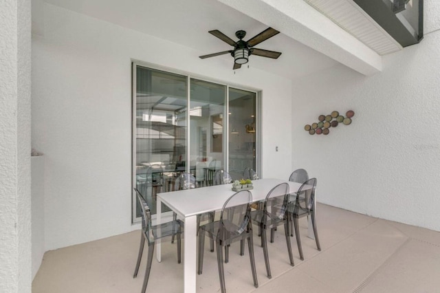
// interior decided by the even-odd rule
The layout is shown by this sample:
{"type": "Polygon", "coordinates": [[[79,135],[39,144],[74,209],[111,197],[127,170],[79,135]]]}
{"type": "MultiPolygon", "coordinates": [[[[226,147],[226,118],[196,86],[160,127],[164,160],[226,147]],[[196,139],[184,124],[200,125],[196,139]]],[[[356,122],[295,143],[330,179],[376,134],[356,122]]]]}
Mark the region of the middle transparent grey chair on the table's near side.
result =
{"type": "Polygon", "coordinates": [[[289,204],[289,184],[281,183],[267,193],[262,209],[252,210],[251,212],[252,224],[256,224],[261,228],[261,246],[263,246],[266,272],[269,279],[272,278],[272,274],[270,272],[269,253],[267,251],[267,230],[271,231],[271,237],[273,237],[273,228],[284,225],[290,265],[294,265],[294,257],[289,237],[289,219],[286,213],[287,204],[289,204]]]}

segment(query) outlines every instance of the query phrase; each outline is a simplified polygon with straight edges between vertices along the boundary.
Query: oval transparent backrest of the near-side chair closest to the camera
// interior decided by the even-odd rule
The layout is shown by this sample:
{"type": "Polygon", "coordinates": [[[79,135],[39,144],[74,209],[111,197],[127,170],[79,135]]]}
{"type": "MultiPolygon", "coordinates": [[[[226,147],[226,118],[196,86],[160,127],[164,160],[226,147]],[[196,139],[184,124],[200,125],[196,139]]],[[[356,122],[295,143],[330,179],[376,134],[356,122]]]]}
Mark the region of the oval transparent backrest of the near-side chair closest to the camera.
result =
{"type": "Polygon", "coordinates": [[[250,219],[250,204],[252,193],[239,191],[226,200],[220,214],[220,227],[217,237],[228,241],[235,236],[241,235],[246,230],[250,219]]]}

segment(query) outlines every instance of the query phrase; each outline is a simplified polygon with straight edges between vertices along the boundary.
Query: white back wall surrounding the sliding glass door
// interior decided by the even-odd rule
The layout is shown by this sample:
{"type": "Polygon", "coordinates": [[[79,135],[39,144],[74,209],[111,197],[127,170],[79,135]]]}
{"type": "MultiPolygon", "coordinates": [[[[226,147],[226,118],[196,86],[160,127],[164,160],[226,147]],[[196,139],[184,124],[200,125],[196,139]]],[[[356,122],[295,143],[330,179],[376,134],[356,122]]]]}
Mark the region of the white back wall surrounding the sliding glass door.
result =
{"type": "Polygon", "coordinates": [[[32,45],[32,146],[45,153],[46,250],[133,228],[131,58],[262,89],[263,176],[292,169],[291,133],[278,131],[292,124],[290,80],[218,69],[223,61],[208,64],[197,57],[203,52],[47,4],[44,34],[32,45]]]}

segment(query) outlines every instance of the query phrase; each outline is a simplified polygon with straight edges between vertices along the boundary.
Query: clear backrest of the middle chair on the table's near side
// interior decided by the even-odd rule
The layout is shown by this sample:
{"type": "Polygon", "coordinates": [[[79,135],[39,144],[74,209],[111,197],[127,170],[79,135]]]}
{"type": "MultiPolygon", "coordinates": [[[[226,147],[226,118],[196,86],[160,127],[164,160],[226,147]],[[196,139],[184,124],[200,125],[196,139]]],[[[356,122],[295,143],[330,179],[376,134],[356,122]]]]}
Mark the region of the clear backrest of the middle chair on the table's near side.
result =
{"type": "Polygon", "coordinates": [[[276,185],[267,193],[263,208],[263,222],[285,219],[287,204],[289,204],[289,184],[276,185]]]}

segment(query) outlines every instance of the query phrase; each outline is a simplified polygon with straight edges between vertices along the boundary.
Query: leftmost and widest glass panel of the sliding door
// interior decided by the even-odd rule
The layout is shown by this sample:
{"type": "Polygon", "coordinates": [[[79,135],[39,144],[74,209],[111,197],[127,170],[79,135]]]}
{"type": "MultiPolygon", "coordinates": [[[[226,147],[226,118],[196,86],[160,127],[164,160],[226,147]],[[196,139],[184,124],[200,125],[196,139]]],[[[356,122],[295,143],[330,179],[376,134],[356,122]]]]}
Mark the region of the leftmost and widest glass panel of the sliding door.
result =
{"type": "MultiPolygon", "coordinates": [[[[187,78],[141,66],[135,67],[135,76],[133,186],[155,214],[157,193],[170,190],[185,169],[187,78]]],[[[135,202],[134,218],[140,217],[135,202]]]]}

